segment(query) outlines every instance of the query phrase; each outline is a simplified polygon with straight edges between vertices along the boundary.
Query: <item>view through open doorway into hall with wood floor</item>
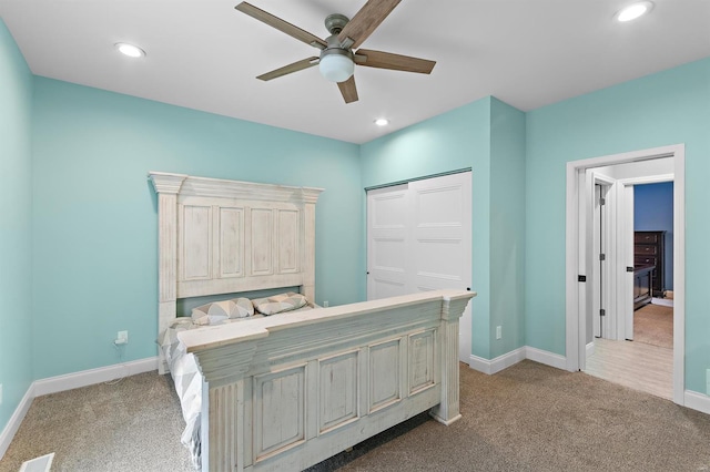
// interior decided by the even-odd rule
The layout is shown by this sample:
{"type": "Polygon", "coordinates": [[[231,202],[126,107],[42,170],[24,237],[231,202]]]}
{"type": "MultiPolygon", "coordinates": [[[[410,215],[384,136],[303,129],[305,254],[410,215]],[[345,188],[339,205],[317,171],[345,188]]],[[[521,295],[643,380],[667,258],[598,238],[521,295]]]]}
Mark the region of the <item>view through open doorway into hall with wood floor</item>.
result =
{"type": "Polygon", "coordinates": [[[627,271],[621,267],[623,264],[618,264],[619,302],[609,307],[605,301],[610,297],[604,289],[598,293],[597,288],[598,279],[604,281],[608,276],[604,270],[598,275],[592,270],[594,299],[606,308],[599,311],[602,315],[607,311],[607,316],[599,316],[596,310],[592,314],[596,317],[595,337],[592,349],[587,349],[585,372],[672,399],[673,163],[666,158],[670,161],[666,174],[648,175],[659,172],[662,162],[658,161],[653,166],[636,163],[607,167],[604,172],[611,176],[607,177],[611,185],[606,185],[606,192],[602,192],[605,186],[596,185],[594,250],[611,256],[608,259],[600,257],[598,264],[613,264],[618,257],[620,263],[627,264],[627,271]],[[613,178],[623,171],[632,177],[613,178]],[[667,179],[669,182],[665,182],[667,179]],[[619,188],[611,202],[616,204],[619,224],[613,220],[609,224],[604,215],[612,212],[607,211],[609,205],[604,196],[613,194],[615,186],[619,188]],[[610,237],[609,227],[615,237],[610,237]],[[598,239],[601,243],[597,243],[598,239]],[[629,278],[632,287],[628,286],[629,278]],[[602,321],[600,328],[597,328],[597,320],[602,321]],[[617,332],[610,328],[616,328],[617,332]]]}

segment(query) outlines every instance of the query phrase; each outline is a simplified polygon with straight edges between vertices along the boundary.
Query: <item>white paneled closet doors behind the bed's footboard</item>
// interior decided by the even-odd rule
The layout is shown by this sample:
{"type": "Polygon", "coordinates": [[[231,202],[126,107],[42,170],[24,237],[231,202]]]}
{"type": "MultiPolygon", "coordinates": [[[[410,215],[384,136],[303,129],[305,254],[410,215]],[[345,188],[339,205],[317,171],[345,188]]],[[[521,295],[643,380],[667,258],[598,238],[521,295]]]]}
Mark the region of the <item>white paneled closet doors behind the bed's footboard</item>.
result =
{"type": "MultiPolygon", "coordinates": [[[[471,173],[367,193],[367,298],[470,288],[471,173]]],[[[459,324],[459,358],[470,362],[471,321],[459,324]]]]}

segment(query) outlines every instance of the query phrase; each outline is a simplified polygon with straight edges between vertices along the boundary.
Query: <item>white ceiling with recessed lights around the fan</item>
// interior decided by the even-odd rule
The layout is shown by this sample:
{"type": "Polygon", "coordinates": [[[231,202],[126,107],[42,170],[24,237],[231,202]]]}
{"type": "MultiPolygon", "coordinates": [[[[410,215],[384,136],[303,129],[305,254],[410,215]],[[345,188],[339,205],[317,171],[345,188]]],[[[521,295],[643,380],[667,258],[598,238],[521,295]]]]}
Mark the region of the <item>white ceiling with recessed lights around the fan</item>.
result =
{"type": "MultiPolygon", "coordinates": [[[[363,48],[436,60],[430,75],[357,66],[345,104],[317,68],[255,76],[318,55],[234,10],[240,0],[0,0],[37,75],[336,140],[365,143],[487,95],[523,111],[710,57],[710,0],[403,1],[363,48]],[[143,48],[142,60],[113,44],[143,48]],[[378,129],[373,120],[386,116],[378,129]]],[[[251,0],[320,38],[365,0],[251,0]]]]}

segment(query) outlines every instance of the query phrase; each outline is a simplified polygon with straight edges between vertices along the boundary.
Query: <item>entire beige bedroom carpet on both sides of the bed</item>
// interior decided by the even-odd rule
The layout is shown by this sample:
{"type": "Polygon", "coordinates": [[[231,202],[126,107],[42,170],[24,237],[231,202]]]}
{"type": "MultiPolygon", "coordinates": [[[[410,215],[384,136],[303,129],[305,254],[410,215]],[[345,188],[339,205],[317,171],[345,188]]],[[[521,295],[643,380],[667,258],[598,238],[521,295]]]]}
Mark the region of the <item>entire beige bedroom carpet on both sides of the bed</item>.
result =
{"type": "MultiPolygon", "coordinates": [[[[311,471],[710,471],[710,415],[529,360],[460,376],[462,420],[417,415],[311,471]]],[[[154,372],[41,397],[0,471],[57,451],[53,472],[186,472],[181,428],[154,372]]]]}

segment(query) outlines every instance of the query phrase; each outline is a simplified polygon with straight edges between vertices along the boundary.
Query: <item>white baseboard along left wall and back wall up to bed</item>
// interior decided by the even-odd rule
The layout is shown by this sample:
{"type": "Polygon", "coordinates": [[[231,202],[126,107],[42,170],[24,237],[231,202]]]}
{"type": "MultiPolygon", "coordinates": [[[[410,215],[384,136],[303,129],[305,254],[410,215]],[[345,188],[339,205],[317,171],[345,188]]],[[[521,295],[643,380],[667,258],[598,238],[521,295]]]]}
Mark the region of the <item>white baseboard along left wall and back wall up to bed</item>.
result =
{"type": "Polygon", "coordinates": [[[65,376],[50,377],[36,380],[22,397],[22,401],[10,417],[10,421],[0,433],[0,459],[12,442],[12,438],[20,429],[30,404],[34,397],[78,389],[80,387],[93,386],[94,383],[108,382],[121,377],[134,376],[136,373],[150,372],[158,369],[158,357],[134,360],[132,362],[116,363],[114,366],[100,367],[98,369],[82,370],[81,372],[68,373],[65,376]]]}

